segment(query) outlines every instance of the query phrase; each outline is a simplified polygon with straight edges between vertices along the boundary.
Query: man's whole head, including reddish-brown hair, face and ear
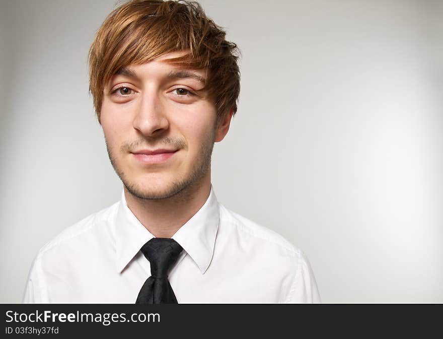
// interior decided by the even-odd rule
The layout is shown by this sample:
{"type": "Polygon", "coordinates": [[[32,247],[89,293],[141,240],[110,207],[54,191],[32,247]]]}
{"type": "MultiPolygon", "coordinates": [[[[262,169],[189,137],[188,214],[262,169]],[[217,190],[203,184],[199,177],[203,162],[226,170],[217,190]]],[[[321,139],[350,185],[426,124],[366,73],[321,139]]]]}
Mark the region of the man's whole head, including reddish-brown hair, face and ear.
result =
{"type": "Polygon", "coordinates": [[[213,143],[237,111],[237,53],[197,3],[135,0],[105,20],[90,88],[111,163],[134,196],[166,198],[210,177],[213,143]],[[161,149],[175,153],[147,155],[161,149]]]}

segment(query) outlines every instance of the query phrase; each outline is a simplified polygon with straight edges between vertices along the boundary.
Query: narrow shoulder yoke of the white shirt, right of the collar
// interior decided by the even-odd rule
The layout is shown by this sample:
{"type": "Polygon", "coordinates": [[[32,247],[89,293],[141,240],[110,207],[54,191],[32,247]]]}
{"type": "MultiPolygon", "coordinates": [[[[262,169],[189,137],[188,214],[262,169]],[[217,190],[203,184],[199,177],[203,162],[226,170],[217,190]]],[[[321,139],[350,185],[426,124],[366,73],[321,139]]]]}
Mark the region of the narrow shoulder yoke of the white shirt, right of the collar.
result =
{"type": "Polygon", "coordinates": [[[257,224],[256,222],[227,209],[221,204],[219,204],[219,207],[220,217],[223,218],[223,221],[236,227],[240,232],[247,233],[269,244],[274,244],[285,250],[285,252],[290,256],[298,258],[304,257],[304,253],[301,249],[293,245],[290,241],[286,240],[279,233],[257,224]]]}

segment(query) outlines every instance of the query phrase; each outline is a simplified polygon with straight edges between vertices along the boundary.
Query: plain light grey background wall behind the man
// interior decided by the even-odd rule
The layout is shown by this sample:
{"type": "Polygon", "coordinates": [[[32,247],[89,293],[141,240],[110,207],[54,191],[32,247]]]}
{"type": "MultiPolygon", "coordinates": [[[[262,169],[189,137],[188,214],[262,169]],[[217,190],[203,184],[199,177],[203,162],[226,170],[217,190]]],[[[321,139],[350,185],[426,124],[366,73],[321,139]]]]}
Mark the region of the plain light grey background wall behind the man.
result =
{"type": "MultiPolygon", "coordinates": [[[[0,8],[0,302],[122,184],[88,93],[115,1],[0,8]]],[[[310,258],[323,302],[443,302],[443,2],[202,1],[242,50],[222,204],[310,258]]]]}

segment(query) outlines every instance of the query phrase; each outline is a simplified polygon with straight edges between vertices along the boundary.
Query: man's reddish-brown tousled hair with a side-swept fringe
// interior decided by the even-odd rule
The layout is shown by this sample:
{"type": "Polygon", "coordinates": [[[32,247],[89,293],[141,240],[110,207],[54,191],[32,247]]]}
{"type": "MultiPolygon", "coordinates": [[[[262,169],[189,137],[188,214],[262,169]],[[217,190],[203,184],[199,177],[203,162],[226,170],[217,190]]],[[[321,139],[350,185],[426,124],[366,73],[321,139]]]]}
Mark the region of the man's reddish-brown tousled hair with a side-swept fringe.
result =
{"type": "Polygon", "coordinates": [[[175,51],[187,53],[168,62],[207,71],[205,89],[214,99],[217,123],[231,109],[235,114],[240,51],[225,35],[196,2],[131,0],[112,11],[89,51],[90,91],[99,122],[104,87],[121,67],[175,51]]]}

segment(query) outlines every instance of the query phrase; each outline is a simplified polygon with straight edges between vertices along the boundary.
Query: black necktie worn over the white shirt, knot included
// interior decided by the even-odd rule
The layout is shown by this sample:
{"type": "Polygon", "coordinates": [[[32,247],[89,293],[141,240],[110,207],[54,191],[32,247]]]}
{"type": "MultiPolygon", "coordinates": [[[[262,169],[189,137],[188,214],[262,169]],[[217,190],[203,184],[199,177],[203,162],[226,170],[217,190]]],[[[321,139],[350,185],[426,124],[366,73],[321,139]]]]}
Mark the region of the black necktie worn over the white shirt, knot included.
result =
{"type": "Polygon", "coordinates": [[[141,247],[141,252],[151,263],[151,277],[141,287],[136,304],[177,304],[168,273],[182,249],[170,238],[152,238],[141,247]]]}

